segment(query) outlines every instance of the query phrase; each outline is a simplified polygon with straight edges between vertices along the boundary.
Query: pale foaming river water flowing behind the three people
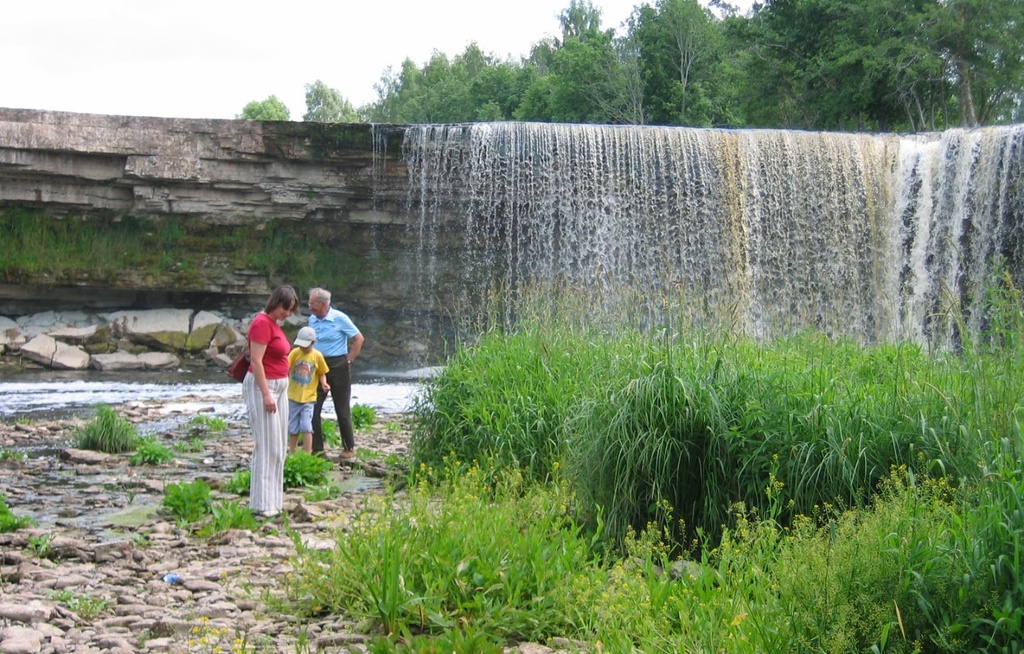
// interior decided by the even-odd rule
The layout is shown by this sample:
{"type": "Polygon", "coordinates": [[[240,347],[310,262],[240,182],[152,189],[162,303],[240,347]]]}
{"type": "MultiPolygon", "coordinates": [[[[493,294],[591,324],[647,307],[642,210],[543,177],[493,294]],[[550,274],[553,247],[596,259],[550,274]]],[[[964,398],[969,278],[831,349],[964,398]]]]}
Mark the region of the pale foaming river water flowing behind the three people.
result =
{"type": "MultiPolygon", "coordinates": [[[[423,380],[432,370],[364,373],[352,378],[352,403],[372,406],[378,412],[410,410],[423,380]]],[[[218,415],[245,412],[242,385],[219,370],[173,373],[97,370],[31,370],[0,374],[0,420],[20,417],[86,417],[96,404],[120,404],[131,400],[179,400],[187,406],[208,405],[218,415]]],[[[334,417],[331,402],[325,416],[334,417]]]]}

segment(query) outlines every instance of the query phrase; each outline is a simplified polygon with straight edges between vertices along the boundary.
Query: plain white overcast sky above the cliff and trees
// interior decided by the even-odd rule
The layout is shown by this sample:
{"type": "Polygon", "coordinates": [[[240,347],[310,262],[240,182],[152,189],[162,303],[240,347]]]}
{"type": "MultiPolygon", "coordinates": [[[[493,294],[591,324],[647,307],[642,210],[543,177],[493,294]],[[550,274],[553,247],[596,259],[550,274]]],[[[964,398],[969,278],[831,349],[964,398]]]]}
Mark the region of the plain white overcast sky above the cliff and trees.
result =
{"type": "MultiPolygon", "coordinates": [[[[644,0],[593,0],[617,28],[644,0]]],[[[648,0],[653,4],[653,0],[648,0]]],[[[751,0],[734,4],[746,7],[751,0]]],[[[323,80],[355,106],[385,69],[475,41],[518,59],[569,0],[35,0],[0,11],[0,106],[231,119],[276,95],[294,121],[323,80]]]]}

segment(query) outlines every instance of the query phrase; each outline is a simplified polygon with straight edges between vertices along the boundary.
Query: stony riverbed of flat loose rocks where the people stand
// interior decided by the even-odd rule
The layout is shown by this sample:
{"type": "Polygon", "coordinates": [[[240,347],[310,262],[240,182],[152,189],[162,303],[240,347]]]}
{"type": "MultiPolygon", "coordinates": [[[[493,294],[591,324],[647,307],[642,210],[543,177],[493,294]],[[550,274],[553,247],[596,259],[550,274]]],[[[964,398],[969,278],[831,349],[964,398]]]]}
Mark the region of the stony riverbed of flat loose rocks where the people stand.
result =
{"type": "MultiPolygon", "coordinates": [[[[187,401],[115,408],[168,446],[195,438],[187,401]]],[[[406,452],[407,417],[379,419],[357,434],[357,446],[381,461],[406,452]]],[[[217,488],[248,467],[244,420],[229,418],[225,431],[201,438],[200,451],[176,452],[161,466],[75,449],[86,420],[0,424],[0,494],[14,515],[38,522],[0,534],[0,654],[365,651],[369,636],[359,624],[300,625],[268,612],[261,596],[278,593],[289,572],[295,547],[288,531],[310,547],[334,547],[332,531],[368,493],[383,491],[375,477],[388,473],[383,463],[339,463],[332,475],[340,496],[308,502],[289,491],[285,516],[202,539],[161,509],[165,487],[202,478],[215,499],[238,498],[217,488]],[[97,612],[98,600],[105,607],[97,612]]]]}

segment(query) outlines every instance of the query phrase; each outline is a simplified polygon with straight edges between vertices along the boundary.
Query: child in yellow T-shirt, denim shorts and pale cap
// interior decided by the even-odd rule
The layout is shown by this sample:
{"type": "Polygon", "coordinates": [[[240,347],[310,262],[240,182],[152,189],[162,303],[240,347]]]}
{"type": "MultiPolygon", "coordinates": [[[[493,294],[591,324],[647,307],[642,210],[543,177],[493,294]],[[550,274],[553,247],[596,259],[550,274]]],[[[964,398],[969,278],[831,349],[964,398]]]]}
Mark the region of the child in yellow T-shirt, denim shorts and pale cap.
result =
{"type": "Polygon", "coordinates": [[[316,333],[312,328],[299,330],[295,348],[288,355],[288,453],[295,451],[302,434],[302,449],[313,450],[313,405],[316,404],[316,384],[324,392],[330,369],[324,355],[313,349],[316,333]]]}

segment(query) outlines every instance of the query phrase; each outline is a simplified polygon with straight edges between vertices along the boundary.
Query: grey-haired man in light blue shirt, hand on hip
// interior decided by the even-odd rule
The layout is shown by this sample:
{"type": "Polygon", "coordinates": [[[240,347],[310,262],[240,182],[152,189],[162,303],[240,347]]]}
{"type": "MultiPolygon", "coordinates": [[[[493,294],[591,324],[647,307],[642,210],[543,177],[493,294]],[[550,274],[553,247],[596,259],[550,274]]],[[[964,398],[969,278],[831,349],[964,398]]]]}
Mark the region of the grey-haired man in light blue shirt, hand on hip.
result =
{"type": "MultiPolygon", "coordinates": [[[[324,289],[313,289],[309,292],[309,326],[316,332],[316,349],[327,359],[330,372],[327,382],[331,387],[331,398],[334,400],[334,411],[338,416],[338,431],[344,450],[342,459],[355,455],[355,434],[352,431],[352,375],[351,364],[362,348],[362,334],[351,318],[331,307],[331,292],[324,289]]],[[[316,392],[316,404],[313,406],[313,449],[312,453],[324,456],[324,430],[321,423],[321,410],[327,392],[323,388],[316,392]]]]}

